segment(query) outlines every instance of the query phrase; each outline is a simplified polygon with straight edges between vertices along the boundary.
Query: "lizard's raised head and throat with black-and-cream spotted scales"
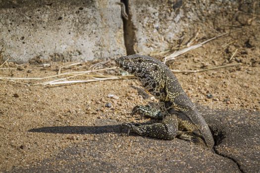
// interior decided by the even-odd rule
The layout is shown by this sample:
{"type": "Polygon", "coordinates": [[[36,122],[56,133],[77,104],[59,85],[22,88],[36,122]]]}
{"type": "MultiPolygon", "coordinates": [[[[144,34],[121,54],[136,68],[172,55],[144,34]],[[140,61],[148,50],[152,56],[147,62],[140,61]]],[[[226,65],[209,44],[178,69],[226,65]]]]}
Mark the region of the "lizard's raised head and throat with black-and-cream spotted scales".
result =
{"type": "Polygon", "coordinates": [[[159,60],[143,55],[122,56],[115,60],[118,67],[133,74],[153,95],[159,96],[167,67],[159,60]]]}

